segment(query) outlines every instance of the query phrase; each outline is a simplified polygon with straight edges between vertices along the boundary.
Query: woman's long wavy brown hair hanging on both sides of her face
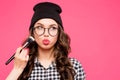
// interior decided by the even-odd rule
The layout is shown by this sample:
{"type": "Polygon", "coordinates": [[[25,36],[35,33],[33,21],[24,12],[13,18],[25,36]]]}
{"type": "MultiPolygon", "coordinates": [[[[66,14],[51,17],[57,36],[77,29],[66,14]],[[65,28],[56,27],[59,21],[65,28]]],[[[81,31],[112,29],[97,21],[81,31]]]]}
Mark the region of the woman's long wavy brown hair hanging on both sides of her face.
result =
{"type": "MultiPolygon", "coordinates": [[[[30,35],[34,36],[33,29],[30,30],[30,35]]],[[[38,56],[37,47],[38,45],[36,42],[32,43],[28,47],[30,49],[29,61],[18,80],[27,80],[29,78],[34,67],[34,59],[38,56]]],[[[60,80],[74,80],[75,71],[68,58],[70,51],[70,38],[59,25],[58,40],[55,44],[53,52],[55,57],[55,63],[57,65],[56,67],[60,74],[60,80]]]]}

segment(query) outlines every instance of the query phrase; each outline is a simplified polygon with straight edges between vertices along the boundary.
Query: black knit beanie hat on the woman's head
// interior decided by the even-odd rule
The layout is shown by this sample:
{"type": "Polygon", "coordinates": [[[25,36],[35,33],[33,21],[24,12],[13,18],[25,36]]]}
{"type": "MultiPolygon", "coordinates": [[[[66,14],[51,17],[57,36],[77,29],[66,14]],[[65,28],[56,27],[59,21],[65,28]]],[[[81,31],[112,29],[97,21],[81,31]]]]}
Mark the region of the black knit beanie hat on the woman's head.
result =
{"type": "Polygon", "coordinates": [[[35,22],[37,22],[39,19],[43,18],[51,18],[55,20],[58,24],[62,25],[62,20],[60,13],[62,12],[62,9],[59,5],[51,2],[41,2],[36,4],[33,7],[34,14],[31,19],[31,24],[29,30],[34,26],[35,22]]]}

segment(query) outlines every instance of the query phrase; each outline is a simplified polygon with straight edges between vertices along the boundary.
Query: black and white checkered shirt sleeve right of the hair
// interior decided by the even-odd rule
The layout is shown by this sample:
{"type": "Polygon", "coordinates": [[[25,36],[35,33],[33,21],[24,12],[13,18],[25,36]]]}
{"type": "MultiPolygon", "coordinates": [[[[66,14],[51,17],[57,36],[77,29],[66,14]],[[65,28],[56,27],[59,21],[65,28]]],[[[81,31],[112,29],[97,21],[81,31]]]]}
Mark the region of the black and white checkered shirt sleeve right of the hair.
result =
{"type": "Polygon", "coordinates": [[[72,64],[73,64],[73,68],[76,72],[75,76],[74,76],[74,80],[86,80],[85,79],[85,71],[82,67],[82,64],[75,58],[71,58],[70,59],[72,64]]]}

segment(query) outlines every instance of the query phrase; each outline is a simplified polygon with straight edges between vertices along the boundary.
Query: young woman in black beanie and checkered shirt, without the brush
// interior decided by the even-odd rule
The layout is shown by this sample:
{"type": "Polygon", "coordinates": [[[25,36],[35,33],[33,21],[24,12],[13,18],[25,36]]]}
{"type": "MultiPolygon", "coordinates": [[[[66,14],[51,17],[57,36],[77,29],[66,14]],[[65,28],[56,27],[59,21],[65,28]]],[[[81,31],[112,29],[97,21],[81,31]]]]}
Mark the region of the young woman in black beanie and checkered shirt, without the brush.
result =
{"type": "Polygon", "coordinates": [[[16,50],[14,67],[6,80],[85,80],[81,64],[68,57],[70,38],[64,32],[60,6],[42,2],[33,9],[29,32],[35,42],[16,50]]]}

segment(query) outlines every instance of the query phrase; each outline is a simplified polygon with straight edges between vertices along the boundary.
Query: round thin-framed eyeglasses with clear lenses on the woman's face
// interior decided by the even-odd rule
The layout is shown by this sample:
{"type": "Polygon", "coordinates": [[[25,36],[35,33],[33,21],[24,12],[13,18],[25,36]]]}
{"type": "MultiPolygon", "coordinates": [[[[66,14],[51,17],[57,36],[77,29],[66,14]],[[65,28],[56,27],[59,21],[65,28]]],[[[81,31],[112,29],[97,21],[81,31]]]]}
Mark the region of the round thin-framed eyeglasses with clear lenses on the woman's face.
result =
{"type": "Polygon", "coordinates": [[[37,26],[37,27],[33,28],[35,33],[37,33],[39,36],[42,36],[45,33],[46,29],[48,30],[49,35],[52,37],[54,37],[58,34],[58,28],[56,28],[56,27],[44,28],[41,26],[37,26]]]}

